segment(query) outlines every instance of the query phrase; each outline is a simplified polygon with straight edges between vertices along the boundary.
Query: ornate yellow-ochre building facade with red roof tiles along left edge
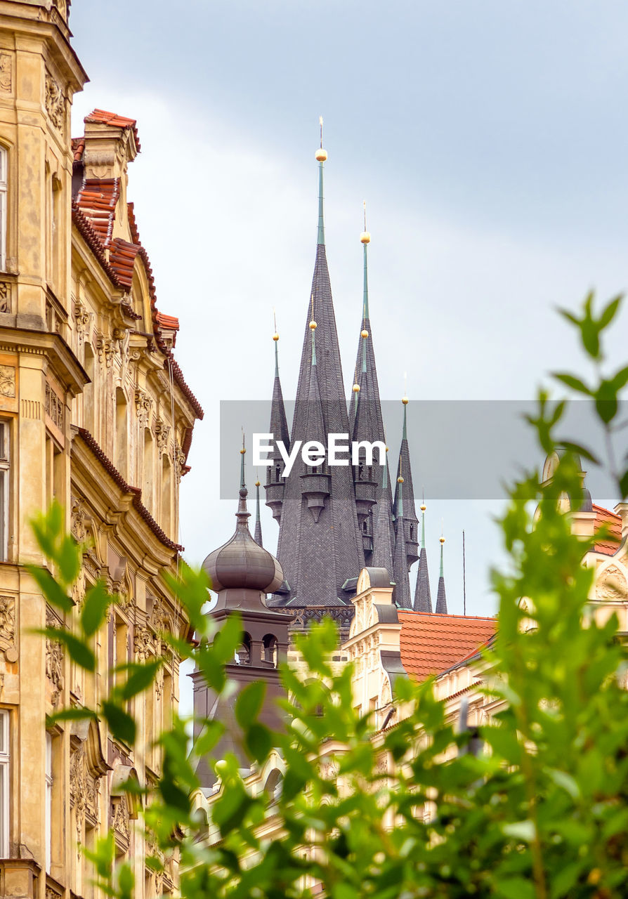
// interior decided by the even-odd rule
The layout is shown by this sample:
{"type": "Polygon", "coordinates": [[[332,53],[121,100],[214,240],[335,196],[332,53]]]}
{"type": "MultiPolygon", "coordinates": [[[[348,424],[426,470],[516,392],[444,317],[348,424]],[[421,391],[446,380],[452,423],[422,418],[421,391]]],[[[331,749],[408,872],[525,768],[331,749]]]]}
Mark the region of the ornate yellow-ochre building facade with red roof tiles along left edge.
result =
{"type": "Polygon", "coordinates": [[[161,634],[187,626],[164,575],[177,570],[179,483],[202,409],[127,197],[136,123],[94,110],[71,138],[86,76],[68,10],[0,4],[0,894],[94,895],[78,845],[111,826],[137,895],[167,895],[174,862],[163,877],[145,869],[121,784],[157,777],[152,741],[177,704],[179,660],[161,634]],[[30,520],[53,500],[85,547],[66,621],[25,567],[45,564],[30,520]],[[120,601],[87,674],[35,631],[71,622],[98,579],[120,601]],[[102,722],[47,728],[60,708],[97,706],[117,664],[151,655],[166,663],[132,701],[136,752],[102,722]]]}

